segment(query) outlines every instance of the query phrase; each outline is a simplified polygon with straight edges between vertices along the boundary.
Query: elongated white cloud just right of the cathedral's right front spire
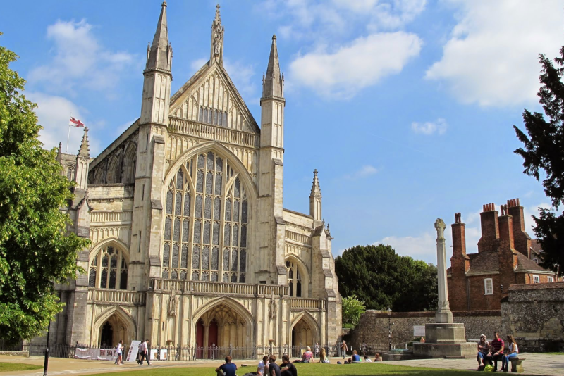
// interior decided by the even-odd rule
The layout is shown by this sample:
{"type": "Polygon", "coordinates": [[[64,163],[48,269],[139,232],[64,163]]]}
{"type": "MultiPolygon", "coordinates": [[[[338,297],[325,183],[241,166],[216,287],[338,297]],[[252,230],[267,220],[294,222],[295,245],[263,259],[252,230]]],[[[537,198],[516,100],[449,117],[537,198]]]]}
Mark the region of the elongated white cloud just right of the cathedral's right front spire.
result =
{"type": "Polygon", "coordinates": [[[290,63],[293,87],[305,86],[321,96],[350,99],[387,75],[400,73],[419,55],[422,40],[407,32],[382,32],[326,51],[298,56],[290,63]]]}

